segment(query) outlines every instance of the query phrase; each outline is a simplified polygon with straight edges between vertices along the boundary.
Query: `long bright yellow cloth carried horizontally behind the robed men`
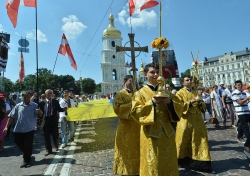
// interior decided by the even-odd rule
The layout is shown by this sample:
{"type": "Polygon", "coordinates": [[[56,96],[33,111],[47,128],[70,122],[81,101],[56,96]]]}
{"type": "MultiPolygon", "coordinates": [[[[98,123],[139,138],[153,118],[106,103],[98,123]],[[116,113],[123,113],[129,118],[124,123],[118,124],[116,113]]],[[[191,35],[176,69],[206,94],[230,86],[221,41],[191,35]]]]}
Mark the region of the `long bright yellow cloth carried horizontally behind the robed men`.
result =
{"type": "Polygon", "coordinates": [[[78,107],[68,108],[68,121],[85,121],[99,118],[117,117],[108,99],[81,102],[78,107]]]}

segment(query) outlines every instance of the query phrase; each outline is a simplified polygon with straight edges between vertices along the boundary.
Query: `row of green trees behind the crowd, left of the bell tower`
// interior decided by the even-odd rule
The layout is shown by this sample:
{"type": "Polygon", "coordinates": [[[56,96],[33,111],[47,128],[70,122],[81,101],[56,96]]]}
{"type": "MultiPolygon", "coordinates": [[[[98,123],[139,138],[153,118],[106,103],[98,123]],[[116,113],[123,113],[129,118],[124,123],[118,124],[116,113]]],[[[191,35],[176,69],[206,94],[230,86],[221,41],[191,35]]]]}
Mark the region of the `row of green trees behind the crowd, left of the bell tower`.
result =
{"type": "MultiPolygon", "coordinates": [[[[8,78],[4,78],[5,92],[22,92],[25,90],[37,90],[37,77],[35,74],[26,75],[21,84],[19,80],[13,83],[8,78]]],[[[97,84],[91,78],[84,78],[82,81],[75,80],[71,75],[52,75],[51,70],[47,68],[38,69],[38,88],[39,93],[45,93],[45,90],[52,89],[54,94],[58,95],[62,90],[70,90],[73,88],[75,94],[81,93],[92,94],[94,92],[101,92],[101,83],[97,84]],[[81,86],[83,92],[81,92],[81,86]]]]}

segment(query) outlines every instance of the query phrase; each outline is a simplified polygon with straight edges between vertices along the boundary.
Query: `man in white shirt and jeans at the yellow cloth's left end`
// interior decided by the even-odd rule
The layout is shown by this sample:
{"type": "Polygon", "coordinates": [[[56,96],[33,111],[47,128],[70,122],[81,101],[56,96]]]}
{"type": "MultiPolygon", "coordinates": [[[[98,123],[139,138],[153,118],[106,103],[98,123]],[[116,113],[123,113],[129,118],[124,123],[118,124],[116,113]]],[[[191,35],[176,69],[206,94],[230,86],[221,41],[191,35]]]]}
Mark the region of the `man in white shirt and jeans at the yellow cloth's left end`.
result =
{"type": "MultiPolygon", "coordinates": [[[[64,90],[63,91],[63,98],[60,100],[59,102],[61,108],[67,107],[76,107],[75,102],[73,99],[69,98],[69,91],[68,90],[64,90]]],[[[67,111],[65,112],[60,112],[59,113],[59,122],[60,122],[60,126],[61,126],[61,138],[62,138],[62,148],[65,148],[68,144],[68,137],[66,134],[67,131],[67,125],[70,131],[70,141],[74,141],[74,122],[71,121],[67,121],[66,117],[67,117],[67,111]]]]}

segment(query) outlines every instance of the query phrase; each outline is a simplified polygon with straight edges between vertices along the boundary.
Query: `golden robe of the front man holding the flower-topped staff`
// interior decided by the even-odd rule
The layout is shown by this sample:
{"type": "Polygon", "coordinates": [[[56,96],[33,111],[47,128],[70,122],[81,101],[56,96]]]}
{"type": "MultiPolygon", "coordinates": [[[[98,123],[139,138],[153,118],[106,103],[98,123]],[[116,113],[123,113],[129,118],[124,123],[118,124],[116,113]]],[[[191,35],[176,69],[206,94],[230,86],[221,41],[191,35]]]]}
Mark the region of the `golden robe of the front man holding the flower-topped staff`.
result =
{"type": "Polygon", "coordinates": [[[140,176],[178,176],[175,131],[170,122],[181,117],[182,102],[168,92],[171,109],[163,102],[154,105],[151,99],[155,94],[144,86],[133,97],[131,115],[141,125],[140,176]]]}

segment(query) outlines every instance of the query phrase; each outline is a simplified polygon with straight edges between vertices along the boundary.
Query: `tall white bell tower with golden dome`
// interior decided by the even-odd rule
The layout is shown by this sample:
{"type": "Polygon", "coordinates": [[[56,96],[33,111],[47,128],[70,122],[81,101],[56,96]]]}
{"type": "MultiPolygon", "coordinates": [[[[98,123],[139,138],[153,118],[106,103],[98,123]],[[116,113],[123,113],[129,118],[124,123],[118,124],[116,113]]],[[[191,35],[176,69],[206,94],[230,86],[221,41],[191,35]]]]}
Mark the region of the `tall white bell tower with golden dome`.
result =
{"type": "Polygon", "coordinates": [[[118,92],[123,88],[126,75],[125,53],[117,52],[116,45],[122,46],[121,32],[114,26],[114,16],[109,16],[109,26],[103,31],[102,37],[102,94],[118,92]]]}

